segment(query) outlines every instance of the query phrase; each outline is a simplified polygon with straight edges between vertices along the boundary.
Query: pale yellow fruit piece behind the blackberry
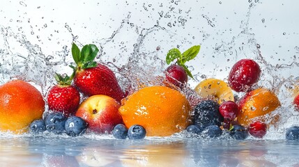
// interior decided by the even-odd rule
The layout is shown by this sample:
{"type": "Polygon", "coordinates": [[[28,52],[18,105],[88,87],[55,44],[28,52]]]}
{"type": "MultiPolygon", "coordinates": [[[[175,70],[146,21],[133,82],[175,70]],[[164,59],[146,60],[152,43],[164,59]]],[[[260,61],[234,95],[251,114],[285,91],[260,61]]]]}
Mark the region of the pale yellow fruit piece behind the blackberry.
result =
{"type": "Polygon", "coordinates": [[[218,104],[225,101],[234,101],[233,91],[227,83],[220,79],[206,79],[194,89],[201,97],[212,98],[218,104]]]}

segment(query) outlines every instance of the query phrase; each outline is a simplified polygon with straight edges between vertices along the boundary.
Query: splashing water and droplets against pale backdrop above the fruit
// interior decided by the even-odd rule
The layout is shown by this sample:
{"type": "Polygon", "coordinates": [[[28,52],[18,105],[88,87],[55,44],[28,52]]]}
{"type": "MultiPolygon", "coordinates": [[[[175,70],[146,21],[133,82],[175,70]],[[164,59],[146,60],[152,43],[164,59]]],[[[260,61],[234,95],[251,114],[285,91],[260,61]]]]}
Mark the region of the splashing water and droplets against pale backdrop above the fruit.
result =
{"type": "MultiPolygon", "coordinates": [[[[138,90],[141,85],[161,84],[169,49],[201,45],[199,56],[187,64],[195,78],[190,79],[190,88],[209,77],[227,80],[233,63],[252,58],[262,69],[258,86],[273,89],[282,102],[275,111],[282,118],[279,127],[270,129],[266,138],[284,138],[286,127],[299,124],[290,92],[298,85],[298,25],[286,22],[291,13],[263,13],[270,2],[82,1],[65,19],[61,13],[70,8],[68,3],[6,3],[17,9],[14,15],[0,9],[1,84],[14,78],[31,81],[45,97],[54,85],[54,72],[71,73],[70,45],[76,42],[80,47],[97,45],[96,61],[116,72],[123,90],[138,90]],[[77,12],[82,7],[89,8],[89,15],[77,12]]],[[[271,5],[286,10],[293,9],[293,3],[271,5]]],[[[185,90],[194,96],[190,92],[185,90]]]]}

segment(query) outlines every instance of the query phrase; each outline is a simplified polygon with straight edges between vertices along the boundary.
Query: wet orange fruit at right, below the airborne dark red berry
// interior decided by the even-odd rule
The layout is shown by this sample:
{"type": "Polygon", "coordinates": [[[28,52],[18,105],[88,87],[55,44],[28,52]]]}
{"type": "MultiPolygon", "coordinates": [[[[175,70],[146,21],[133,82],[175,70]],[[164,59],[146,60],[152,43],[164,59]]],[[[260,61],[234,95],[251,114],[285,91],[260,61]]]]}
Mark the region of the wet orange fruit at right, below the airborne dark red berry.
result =
{"type": "Polygon", "coordinates": [[[266,88],[257,88],[247,93],[240,102],[238,102],[240,112],[238,113],[238,122],[241,125],[249,125],[256,118],[265,116],[275,111],[280,102],[278,97],[272,91],[266,88]]]}

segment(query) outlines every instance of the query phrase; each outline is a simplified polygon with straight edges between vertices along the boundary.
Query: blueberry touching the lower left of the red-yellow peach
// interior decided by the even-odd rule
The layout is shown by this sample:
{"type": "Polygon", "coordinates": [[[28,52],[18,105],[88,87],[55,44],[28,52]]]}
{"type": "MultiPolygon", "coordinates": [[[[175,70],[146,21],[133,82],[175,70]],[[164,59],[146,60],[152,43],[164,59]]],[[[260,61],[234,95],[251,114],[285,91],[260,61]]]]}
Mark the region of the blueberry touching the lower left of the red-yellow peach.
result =
{"type": "Polygon", "coordinates": [[[86,131],[87,123],[82,118],[70,116],[64,127],[68,136],[79,136],[86,131]]]}

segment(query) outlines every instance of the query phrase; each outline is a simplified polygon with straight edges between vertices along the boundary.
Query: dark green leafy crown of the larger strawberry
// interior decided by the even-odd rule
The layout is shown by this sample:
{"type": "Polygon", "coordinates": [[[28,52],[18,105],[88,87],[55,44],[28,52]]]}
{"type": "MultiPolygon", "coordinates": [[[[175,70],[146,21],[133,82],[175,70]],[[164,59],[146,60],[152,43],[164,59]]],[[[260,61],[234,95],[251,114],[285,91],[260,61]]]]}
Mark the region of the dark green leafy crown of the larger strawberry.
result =
{"type": "Polygon", "coordinates": [[[84,45],[80,50],[79,47],[72,43],[72,58],[74,59],[77,67],[70,65],[74,71],[79,71],[86,68],[95,67],[97,63],[94,61],[95,56],[98,54],[98,47],[93,44],[84,45]]]}

